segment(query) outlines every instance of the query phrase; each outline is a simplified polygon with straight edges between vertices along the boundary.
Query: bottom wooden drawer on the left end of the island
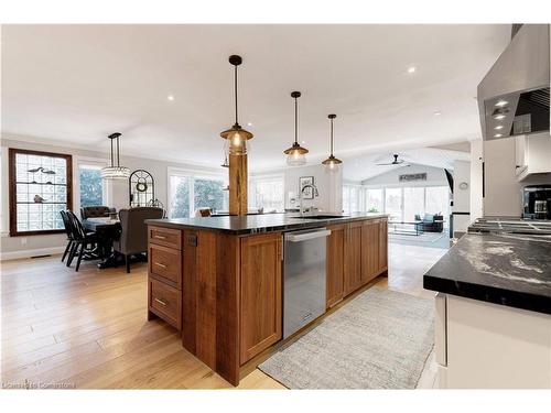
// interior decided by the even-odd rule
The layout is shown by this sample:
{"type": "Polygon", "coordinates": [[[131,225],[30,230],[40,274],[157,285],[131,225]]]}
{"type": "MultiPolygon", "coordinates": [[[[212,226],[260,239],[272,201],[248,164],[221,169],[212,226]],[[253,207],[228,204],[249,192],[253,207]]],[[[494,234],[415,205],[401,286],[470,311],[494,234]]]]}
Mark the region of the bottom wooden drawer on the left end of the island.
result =
{"type": "Polygon", "coordinates": [[[165,322],[181,329],[182,292],[154,279],[149,279],[149,306],[165,322]]]}

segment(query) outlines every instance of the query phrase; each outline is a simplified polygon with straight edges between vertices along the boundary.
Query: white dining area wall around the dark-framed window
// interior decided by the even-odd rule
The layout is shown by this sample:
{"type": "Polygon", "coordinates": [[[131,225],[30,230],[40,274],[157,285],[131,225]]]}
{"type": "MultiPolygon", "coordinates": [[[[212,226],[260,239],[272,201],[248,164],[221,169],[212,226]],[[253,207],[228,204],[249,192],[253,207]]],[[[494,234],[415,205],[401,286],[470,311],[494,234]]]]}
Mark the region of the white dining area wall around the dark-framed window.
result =
{"type": "MultiPolygon", "coordinates": [[[[11,137],[10,137],[11,138],[11,137]]],[[[46,141],[47,142],[47,141],[46,141]]],[[[77,198],[78,191],[78,174],[76,165],[79,159],[96,159],[108,160],[107,153],[87,151],[75,148],[63,148],[46,143],[35,143],[29,141],[20,141],[14,139],[1,140],[2,146],[2,163],[1,163],[1,194],[2,194],[2,216],[1,216],[1,259],[23,258],[31,256],[40,256],[46,253],[63,252],[66,244],[65,235],[46,235],[46,236],[28,236],[28,237],[9,237],[9,182],[8,182],[8,148],[26,149],[45,152],[66,153],[73,155],[73,209],[78,210],[79,199],[77,198]]],[[[122,148],[123,154],[123,148],[122,148]]],[[[206,169],[195,165],[177,164],[158,160],[150,160],[144,157],[121,156],[121,164],[128,166],[130,171],[145,170],[153,175],[155,180],[155,197],[168,207],[168,167],[182,167],[193,170],[204,170],[205,172],[219,173],[220,169],[206,169]]],[[[111,181],[111,199],[108,204],[118,209],[128,208],[128,181],[111,181]]],[[[78,215],[78,214],[77,214],[78,215]]]]}

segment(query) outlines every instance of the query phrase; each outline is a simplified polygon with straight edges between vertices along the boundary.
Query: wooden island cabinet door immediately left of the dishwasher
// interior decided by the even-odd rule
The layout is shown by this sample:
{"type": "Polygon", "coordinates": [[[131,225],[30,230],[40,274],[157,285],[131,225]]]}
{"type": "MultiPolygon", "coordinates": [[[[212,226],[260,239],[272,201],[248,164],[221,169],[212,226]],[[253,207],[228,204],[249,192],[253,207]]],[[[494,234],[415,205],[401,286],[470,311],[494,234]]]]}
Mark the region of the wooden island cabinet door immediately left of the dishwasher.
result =
{"type": "Polygon", "coordinates": [[[241,239],[241,365],[282,337],[281,235],[241,239]]]}

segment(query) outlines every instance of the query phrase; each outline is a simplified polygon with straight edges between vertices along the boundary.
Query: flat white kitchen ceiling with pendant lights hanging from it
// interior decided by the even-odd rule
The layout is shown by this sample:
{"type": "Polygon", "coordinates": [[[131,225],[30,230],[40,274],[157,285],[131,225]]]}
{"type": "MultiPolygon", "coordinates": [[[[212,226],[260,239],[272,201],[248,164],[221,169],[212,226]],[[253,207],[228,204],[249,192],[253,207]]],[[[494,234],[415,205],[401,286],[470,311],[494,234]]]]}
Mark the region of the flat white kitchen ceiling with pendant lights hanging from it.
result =
{"type": "Polygon", "coordinates": [[[240,54],[251,171],[284,165],[292,90],[303,94],[311,162],[327,155],[331,112],[345,161],[465,141],[479,137],[476,86],[509,33],[495,24],[4,25],[2,132],[107,150],[119,131],[123,154],[219,165],[218,134],[233,123],[227,57],[240,54]]]}

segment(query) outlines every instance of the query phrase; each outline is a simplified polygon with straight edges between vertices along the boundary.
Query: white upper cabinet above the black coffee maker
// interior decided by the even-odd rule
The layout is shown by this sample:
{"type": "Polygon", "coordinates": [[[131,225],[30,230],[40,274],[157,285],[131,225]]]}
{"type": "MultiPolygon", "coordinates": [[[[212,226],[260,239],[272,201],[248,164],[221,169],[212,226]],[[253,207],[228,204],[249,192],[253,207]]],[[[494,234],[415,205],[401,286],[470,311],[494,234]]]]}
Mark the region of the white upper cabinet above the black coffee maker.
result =
{"type": "Polygon", "coordinates": [[[516,174],[519,181],[529,175],[551,172],[549,132],[515,138],[516,174]]]}

